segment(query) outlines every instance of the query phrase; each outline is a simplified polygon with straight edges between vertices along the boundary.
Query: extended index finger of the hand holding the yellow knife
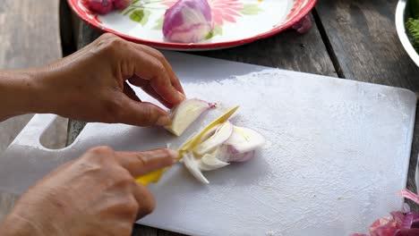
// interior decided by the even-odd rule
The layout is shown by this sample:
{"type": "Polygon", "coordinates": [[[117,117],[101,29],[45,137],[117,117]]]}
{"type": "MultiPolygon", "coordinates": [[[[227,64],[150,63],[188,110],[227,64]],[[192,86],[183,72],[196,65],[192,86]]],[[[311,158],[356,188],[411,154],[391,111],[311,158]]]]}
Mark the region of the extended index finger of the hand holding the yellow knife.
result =
{"type": "Polygon", "coordinates": [[[144,152],[115,152],[115,156],[135,178],[174,164],[178,153],[165,148],[144,152]]]}

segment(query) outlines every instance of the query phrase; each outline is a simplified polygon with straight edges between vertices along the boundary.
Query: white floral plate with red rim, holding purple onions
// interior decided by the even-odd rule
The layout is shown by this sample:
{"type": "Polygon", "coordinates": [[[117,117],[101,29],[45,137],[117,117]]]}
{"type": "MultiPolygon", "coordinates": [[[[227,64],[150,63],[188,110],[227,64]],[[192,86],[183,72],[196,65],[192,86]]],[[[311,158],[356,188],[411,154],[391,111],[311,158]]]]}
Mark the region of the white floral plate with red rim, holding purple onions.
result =
{"type": "Polygon", "coordinates": [[[68,0],[73,11],[91,26],[133,42],[175,50],[211,50],[244,45],[292,27],[310,13],[317,0],[208,0],[214,30],[194,44],[163,38],[163,16],[175,0],[134,0],[123,11],[97,15],[84,7],[85,0],[68,0]]]}

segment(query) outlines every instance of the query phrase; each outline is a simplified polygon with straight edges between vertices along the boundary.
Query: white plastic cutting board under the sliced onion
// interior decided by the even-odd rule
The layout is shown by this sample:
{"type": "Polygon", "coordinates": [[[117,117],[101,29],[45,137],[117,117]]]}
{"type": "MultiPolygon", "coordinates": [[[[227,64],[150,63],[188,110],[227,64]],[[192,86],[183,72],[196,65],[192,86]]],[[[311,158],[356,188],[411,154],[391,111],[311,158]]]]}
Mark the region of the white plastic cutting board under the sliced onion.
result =
{"type": "Polygon", "coordinates": [[[150,186],[157,208],[141,223],[193,235],[337,236],[366,232],[402,206],[397,192],[406,186],[413,92],[193,55],[167,58],[187,95],[218,102],[218,110],[180,139],[158,128],[89,123],[61,150],[38,141],[55,115],[37,115],[0,158],[0,190],[20,193],[89,147],[179,147],[241,105],[233,121],[268,140],[257,157],[205,173],[208,186],[177,164],[150,186]]]}

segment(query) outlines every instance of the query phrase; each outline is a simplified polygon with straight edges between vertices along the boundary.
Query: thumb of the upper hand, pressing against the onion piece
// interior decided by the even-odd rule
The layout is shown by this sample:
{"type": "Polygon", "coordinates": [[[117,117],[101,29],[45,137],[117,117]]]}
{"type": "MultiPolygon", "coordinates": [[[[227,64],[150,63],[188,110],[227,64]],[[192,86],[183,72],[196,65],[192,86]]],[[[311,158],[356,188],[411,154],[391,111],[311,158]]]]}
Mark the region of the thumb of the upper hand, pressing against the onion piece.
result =
{"type": "Polygon", "coordinates": [[[123,105],[120,109],[118,122],[137,126],[164,126],[170,124],[170,116],[158,105],[151,103],[134,101],[130,97],[123,95],[123,105]]]}

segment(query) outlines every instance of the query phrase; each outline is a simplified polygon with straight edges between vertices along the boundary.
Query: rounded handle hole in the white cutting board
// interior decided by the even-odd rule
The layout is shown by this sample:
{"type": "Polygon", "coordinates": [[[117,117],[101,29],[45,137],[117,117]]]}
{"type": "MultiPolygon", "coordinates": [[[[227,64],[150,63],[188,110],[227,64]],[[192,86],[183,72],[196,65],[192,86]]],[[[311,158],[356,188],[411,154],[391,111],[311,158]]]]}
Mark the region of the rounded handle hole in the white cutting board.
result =
{"type": "Polygon", "coordinates": [[[48,149],[66,147],[68,119],[57,116],[39,137],[39,143],[48,149]]]}

